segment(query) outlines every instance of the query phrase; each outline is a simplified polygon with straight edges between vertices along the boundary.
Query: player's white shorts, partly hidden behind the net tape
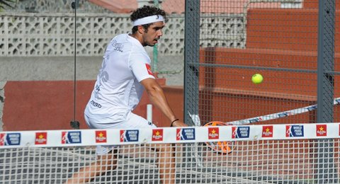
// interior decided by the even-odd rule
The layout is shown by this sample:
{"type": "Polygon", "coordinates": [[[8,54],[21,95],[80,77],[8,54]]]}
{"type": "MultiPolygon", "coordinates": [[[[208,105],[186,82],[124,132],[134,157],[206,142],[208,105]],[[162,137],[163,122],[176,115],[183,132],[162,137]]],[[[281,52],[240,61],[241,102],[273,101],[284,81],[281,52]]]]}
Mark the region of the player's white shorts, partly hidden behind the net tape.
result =
{"type": "MultiPolygon", "coordinates": [[[[86,124],[91,129],[140,129],[140,128],[155,128],[152,122],[149,122],[144,117],[135,115],[134,113],[128,113],[125,117],[125,121],[122,122],[108,122],[107,118],[90,118],[84,115],[86,124]]],[[[117,146],[97,146],[96,154],[104,155],[112,151],[117,146]]]]}

